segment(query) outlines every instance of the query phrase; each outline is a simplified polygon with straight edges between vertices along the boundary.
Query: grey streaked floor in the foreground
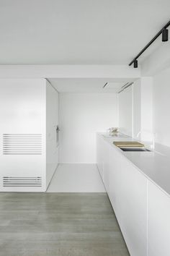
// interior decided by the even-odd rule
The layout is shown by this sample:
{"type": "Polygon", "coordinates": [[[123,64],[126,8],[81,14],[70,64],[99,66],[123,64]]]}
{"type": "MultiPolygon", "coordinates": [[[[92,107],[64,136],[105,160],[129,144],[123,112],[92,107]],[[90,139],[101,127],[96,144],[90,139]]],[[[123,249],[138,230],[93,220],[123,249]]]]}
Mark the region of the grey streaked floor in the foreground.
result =
{"type": "Polygon", "coordinates": [[[106,193],[0,193],[1,256],[129,255],[106,193]]]}

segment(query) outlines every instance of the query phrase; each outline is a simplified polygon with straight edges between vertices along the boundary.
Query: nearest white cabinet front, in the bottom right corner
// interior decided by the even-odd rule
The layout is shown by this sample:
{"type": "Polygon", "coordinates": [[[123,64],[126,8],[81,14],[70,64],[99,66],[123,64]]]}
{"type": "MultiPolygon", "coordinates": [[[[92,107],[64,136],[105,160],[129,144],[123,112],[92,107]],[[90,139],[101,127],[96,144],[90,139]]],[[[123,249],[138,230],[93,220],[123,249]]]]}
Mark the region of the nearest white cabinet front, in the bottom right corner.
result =
{"type": "Polygon", "coordinates": [[[170,255],[170,199],[148,181],[148,256],[170,255]]]}

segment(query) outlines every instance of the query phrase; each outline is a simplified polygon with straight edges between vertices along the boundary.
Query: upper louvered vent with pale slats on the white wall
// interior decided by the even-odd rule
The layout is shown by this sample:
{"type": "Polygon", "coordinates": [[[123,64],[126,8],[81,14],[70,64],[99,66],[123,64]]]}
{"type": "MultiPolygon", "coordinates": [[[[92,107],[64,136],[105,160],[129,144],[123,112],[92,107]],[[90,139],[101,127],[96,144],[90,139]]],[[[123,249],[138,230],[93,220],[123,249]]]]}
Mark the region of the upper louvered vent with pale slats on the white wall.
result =
{"type": "Polygon", "coordinates": [[[41,134],[4,134],[4,155],[41,155],[41,134]]]}

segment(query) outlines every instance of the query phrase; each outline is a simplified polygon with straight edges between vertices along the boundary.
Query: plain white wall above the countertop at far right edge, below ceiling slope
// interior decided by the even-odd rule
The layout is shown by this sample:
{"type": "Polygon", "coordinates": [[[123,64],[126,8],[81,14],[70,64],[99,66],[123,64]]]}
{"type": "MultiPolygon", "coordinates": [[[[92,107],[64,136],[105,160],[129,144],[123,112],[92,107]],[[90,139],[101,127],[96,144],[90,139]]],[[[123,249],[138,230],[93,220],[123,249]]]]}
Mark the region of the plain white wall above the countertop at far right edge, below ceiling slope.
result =
{"type": "Polygon", "coordinates": [[[156,142],[170,146],[170,68],[153,77],[153,132],[156,142]]]}

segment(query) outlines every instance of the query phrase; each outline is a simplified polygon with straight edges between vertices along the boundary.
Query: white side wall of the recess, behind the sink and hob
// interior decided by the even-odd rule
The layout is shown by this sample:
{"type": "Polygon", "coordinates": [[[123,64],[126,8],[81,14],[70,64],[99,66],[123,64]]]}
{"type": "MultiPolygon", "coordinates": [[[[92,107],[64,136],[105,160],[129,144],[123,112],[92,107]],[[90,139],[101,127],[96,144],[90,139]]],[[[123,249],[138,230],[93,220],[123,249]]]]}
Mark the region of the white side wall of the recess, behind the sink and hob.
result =
{"type": "Polygon", "coordinates": [[[152,77],[141,77],[119,93],[120,132],[135,139],[151,142],[152,135],[152,77]],[[140,136],[138,133],[141,132],[140,136]]]}

